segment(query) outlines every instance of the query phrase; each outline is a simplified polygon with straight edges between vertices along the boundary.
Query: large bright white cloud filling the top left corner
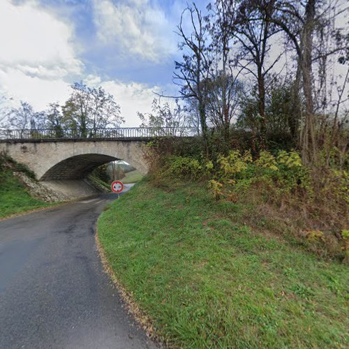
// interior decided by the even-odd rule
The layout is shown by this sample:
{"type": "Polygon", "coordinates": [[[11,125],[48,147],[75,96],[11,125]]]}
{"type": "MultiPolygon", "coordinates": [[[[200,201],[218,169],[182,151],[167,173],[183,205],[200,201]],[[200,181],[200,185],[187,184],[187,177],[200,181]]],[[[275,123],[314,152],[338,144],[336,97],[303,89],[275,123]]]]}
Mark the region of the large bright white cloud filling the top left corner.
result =
{"type": "Polygon", "coordinates": [[[64,101],[68,83],[82,73],[73,27],[42,10],[36,1],[0,1],[0,91],[41,109],[64,101]]]}

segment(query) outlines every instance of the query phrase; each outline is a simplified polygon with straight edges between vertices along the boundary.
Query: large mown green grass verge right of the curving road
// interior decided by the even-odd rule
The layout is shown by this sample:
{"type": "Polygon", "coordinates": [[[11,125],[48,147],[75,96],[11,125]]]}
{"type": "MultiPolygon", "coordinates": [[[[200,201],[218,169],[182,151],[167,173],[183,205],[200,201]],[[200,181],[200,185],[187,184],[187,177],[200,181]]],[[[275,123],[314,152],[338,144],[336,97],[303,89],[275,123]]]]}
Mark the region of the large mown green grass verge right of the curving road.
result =
{"type": "Polygon", "coordinates": [[[141,181],[98,232],[158,336],[188,348],[348,348],[349,270],[258,235],[205,187],[141,181]]]}

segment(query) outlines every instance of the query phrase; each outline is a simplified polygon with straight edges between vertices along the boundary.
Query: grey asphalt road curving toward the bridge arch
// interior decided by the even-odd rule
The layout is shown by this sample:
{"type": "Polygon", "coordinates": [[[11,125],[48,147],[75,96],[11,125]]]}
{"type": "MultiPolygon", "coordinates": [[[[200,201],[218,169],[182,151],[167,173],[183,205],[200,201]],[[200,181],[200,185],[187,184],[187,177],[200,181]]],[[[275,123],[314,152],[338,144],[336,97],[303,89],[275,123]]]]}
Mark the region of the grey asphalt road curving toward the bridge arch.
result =
{"type": "Polygon", "coordinates": [[[103,271],[95,225],[115,194],[0,221],[0,348],[155,348],[103,271]]]}

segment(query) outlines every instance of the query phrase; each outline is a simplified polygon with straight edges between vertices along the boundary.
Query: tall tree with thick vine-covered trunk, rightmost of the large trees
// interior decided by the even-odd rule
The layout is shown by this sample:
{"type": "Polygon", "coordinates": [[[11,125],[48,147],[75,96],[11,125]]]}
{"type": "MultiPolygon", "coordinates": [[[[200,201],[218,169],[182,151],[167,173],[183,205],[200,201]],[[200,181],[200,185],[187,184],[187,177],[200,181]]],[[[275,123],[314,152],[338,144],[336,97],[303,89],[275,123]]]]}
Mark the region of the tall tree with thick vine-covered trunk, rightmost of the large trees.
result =
{"type": "MultiPolygon", "coordinates": [[[[331,10],[336,8],[338,1],[273,0],[272,3],[272,11],[262,3],[260,3],[260,8],[265,11],[269,22],[276,24],[285,32],[297,54],[297,76],[302,84],[305,101],[304,122],[299,144],[303,160],[306,163],[311,163],[317,159],[318,154],[318,140],[315,134],[313,64],[318,59],[325,59],[335,52],[340,52],[346,48],[348,50],[348,47],[340,47],[339,45],[339,47],[323,52],[321,40],[318,41],[318,47],[314,47],[315,36],[321,36],[323,29],[329,24],[327,15],[329,13],[332,17],[338,15],[338,13],[334,15],[331,13],[331,10]],[[321,53],[314,54],[314,52],[321,53]]],[[[295,89],[297,89],[297,84],[295,89]]],[[[294,91],[294,95],[296,95],[296,91],[294,91]]],[[[299,101],[299,97],[295,98],[295,101],[299,101]]]]}

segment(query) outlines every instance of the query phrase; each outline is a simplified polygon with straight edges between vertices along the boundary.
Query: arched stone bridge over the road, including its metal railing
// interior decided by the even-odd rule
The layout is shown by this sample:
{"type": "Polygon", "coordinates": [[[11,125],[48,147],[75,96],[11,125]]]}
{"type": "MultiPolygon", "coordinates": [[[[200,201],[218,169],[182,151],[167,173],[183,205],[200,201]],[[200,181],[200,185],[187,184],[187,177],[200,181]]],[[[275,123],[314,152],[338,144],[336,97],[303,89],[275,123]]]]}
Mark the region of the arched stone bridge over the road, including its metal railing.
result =
{"type": "MultiPolygon", "coordinates": [[[[142,151],[146,142],[156,137],[190,136],[192,132],[191,128],[86,129],[84,134],[74,130],[5,130],[0,133],[0,153],[27,165],[43,182],[81,180],[94,168],[115,160],[124,160],[147,174],[142,151]]],[[[64,182],[64,191],[67,186],[64,182]]]]}

